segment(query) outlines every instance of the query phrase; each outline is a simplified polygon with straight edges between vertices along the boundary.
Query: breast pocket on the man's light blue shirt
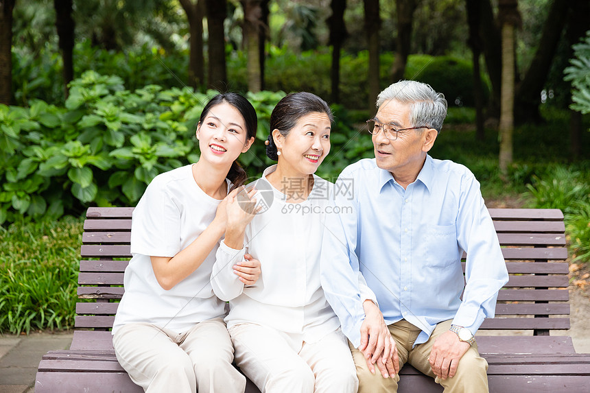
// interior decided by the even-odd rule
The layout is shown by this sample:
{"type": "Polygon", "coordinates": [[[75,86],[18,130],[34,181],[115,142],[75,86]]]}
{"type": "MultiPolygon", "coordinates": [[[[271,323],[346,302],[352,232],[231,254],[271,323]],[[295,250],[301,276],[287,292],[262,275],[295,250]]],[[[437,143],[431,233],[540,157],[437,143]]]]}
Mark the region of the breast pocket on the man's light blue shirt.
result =
{"type": "Polygon", "coordinates": [[[457,230],[455,225],[430,225],[426,229],[428,267],[444,269],[459,258],[457,230]]]}

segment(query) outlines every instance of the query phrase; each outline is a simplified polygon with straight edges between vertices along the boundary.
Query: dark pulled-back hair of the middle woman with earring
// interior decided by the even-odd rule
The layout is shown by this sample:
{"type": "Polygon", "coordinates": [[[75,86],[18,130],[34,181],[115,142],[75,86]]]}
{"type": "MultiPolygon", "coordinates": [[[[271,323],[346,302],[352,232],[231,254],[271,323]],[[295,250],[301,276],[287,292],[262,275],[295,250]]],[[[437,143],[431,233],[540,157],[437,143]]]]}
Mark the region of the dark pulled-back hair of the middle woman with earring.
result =
{"type": "Polygon", "coordinates": [[[286,137],[300,118],[313,112],[325,113],[328,115],[330,123],[334,121],[329,105],[315,94],[303,91],[291,93],[285,95],[276,104],[270,114],[270,134],[268,134],[268,145],[266,145],[268,158],[275,161],[279,160],[279,156],[276,154],[276,145],[272,138],[272,131],[279,130],[281,135],[286,137]]]}

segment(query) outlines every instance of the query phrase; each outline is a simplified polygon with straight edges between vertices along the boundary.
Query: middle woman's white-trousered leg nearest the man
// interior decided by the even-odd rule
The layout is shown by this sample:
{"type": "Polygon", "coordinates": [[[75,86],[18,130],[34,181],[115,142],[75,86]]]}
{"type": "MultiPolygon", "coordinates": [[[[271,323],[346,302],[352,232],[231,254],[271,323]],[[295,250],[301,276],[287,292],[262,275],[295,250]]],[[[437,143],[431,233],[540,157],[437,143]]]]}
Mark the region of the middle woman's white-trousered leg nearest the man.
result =
{"type": "Polygon", "coordinates": [[[299,355],[314,372],[315,393],[357,392],[359,380],[346,342],[346,337],[338,329],[318,342],[303,344],[299,355]]]}

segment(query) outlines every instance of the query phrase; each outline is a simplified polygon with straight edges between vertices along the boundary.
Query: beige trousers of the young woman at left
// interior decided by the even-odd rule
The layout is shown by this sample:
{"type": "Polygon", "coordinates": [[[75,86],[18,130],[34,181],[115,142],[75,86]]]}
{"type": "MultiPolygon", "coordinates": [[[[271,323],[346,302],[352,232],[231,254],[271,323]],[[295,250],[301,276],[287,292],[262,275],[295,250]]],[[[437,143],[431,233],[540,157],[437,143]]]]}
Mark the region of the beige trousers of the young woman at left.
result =
{"type": "Polygon", "coordinates": [[[232,366],[233,346],[221,318],[185,333],[130,323],[113,335],[117,360],[145,392],[244,392],[246,378],[232,366]]]}

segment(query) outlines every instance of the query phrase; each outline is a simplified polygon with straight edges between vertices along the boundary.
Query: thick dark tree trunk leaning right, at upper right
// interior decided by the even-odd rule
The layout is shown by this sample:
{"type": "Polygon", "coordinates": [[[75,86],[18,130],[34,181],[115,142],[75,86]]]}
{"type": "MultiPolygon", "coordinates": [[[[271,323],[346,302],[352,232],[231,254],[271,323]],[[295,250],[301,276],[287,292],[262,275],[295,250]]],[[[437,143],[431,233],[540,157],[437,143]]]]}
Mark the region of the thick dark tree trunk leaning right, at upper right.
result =
{"type": "MultiPolygon", "coordinates": [[[[565,26],[569,3],[571,1],[554,0],[547,15],[543,34],[534,58],[522,82],[517,86],[515,97],[515,110],[517,112],[515,115],[519,122],[533,121],[539,123],[541,121],[541,115],[539,114],[541,90],[543,90],[543,86],[547,81],[557,44],[565,26]]],[[[588,14],[585,15],[585,19],[587,18],[588,14]]]]}

